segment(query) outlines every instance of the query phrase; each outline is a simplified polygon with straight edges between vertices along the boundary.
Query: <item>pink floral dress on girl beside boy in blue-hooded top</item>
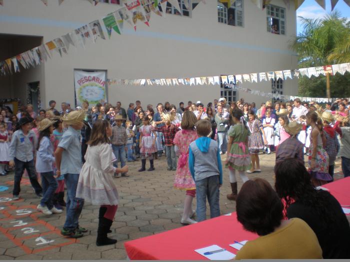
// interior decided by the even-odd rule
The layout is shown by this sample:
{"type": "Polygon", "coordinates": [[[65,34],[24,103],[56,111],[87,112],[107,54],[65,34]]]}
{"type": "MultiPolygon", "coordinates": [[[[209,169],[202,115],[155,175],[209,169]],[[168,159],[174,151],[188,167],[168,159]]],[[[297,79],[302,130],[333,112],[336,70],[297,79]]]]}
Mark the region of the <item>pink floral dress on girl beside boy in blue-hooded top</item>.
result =
{"type": "Polygon", "coordinates": [[[178,147],[180,153],[174,181],[174,187],[177,189],[195,189],[194,181],[188,169],[188,149],[189,144],[197,138],[195,130],[181,130],[175,134],[173,143],[178,147]]]}

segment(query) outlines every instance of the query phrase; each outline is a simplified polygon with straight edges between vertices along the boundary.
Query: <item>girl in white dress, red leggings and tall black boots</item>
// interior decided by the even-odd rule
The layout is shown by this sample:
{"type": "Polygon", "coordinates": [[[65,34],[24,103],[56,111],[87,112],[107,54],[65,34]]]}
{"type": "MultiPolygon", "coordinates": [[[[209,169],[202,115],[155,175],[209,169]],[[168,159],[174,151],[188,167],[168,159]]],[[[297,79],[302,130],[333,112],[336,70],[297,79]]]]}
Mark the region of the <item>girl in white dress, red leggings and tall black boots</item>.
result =
{"type": "Polygon", "coordinates": [[[112,245],[116,240],[107,238],[118,207],[118,192],[111,178],[114,173],[126,173],[127,166],[115,168],[116,160],[110,147],[109,137],[112,128],[109,121],[96,120],[92,127],[90,140],[85,154],[76,188],[76,197],[100,206],[98,211],[98,229],[96,246],[112,245]]]}

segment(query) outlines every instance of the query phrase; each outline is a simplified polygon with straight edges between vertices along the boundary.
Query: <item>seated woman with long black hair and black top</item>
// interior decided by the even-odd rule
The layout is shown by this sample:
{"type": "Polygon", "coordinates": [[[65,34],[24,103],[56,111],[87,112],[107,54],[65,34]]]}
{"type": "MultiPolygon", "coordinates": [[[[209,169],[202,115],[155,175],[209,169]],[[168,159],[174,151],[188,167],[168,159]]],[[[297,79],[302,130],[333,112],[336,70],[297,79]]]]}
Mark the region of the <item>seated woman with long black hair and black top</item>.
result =
{"type": "Polygon", "coordinates": [[[307,223],[317,236],[323,259],[350,258],[350,227],[338,201],[327,191],[314,188],[310,174],[296,159],[278,163],[274,173],[287,218],[307,223]]]}

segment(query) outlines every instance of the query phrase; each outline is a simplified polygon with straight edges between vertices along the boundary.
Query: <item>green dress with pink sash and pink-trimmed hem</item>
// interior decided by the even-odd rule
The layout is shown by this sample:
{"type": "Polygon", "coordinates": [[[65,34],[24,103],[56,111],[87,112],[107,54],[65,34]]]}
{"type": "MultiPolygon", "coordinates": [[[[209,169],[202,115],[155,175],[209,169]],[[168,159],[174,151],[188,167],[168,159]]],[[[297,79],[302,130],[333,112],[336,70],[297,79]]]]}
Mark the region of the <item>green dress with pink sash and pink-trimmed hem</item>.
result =
{"type": "Polygon", "coordinates": [[[250,155],[245,144],[248,135],[249,131],[242,124],[236,124],[229,128],[228,136],[233,137],[233,144],[228,153],[226,167],[237,171],[246,171],[251,168],[250,155]]]}

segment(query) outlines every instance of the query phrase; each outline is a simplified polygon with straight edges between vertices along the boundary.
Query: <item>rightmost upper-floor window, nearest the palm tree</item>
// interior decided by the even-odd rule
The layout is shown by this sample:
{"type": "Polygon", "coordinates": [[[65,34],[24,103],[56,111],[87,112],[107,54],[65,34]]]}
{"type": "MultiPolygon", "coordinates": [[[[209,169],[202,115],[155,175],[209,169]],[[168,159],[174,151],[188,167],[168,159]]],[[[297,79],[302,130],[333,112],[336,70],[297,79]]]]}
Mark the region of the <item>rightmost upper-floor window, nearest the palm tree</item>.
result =
{"type": "Polygon", "coordinates": [[[267,32],[285,34],[285,8],[266,5],[267,32]]]}

